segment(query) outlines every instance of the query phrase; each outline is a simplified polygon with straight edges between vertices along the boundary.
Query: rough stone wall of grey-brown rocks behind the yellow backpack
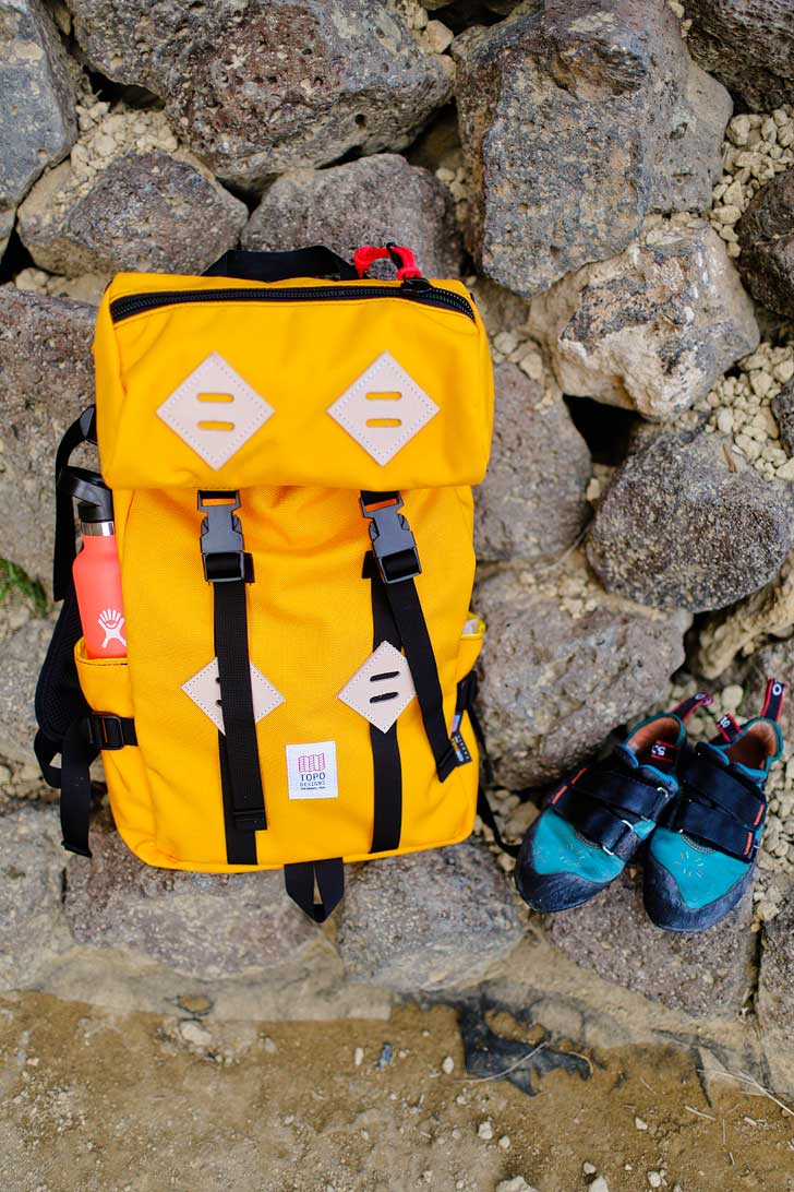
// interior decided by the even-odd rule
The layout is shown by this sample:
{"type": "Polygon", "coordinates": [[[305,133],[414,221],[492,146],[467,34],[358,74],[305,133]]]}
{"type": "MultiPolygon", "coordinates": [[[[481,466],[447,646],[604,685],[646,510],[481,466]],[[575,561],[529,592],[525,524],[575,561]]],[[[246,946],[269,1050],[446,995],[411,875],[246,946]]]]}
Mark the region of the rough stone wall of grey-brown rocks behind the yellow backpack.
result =
{"type": "MultiPolygon", "coordinates": [[[[482,716],[520,836],[536,814],[525,788],[540,794],[646,709],[709,681],[718,708],[750,715],[763,672],[792,677],[793,35],[776,0],[458,5],[456,30],[486,8],[488,23],[456,37],[434,7],[165,0],[152,21],[143,0],[70,0],[56,26],[40,0],[0,0],[0,557],[48,589],[52,452],[90,399],[93,305],[114,272],[200,272],[238,244],[411,244],[429,275],[467,279],[490,334],[482,716]]],[[[25,839],[51,815],[29,749],[49,629],[21,596],[0,617],[0,809],[25,839]]],[[[675,983],[702,1016],[745,1002],[754,929],[774,924],[762,1001],[779,1023],[788,749],[770,800],[755,901],[725,929],[711,992],[704,955],[640,921],[631,875],[590,911],[526,929],[481,843],[357,873],[331,967],[438,993],[540,930],[644,995],[673,1004],[675,983]],[[633,948],[617,967],[593,938],[613,914],[633,948]]],[[[88,873],[69,865],[64,955],[145,950],[157,907],[177,936],[199,892],[205,911],[226,905],[218,879],[169,884],[100,851],[88,873]]],[[[267,881],[250,879],[251,905],[267,881]]],[[[304,951],[327,940],[276,919],[274,939],[300,939],[295,988],[304,951]]],[[[149,961],[198,971],[201,952],[149,961]]]]}

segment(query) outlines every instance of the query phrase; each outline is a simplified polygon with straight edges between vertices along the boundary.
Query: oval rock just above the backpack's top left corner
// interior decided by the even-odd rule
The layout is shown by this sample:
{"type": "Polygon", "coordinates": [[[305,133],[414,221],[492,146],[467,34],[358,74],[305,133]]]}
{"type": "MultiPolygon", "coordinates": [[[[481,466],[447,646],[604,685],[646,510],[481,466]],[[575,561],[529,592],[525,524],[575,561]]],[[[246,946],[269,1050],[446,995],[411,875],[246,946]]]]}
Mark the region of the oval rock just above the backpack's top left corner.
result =
{"type": "Polygon", "coordinates": [[[111,157],[85,185],[64,162],[19,209],[19,235],[52,273],[202,273],[237,243],[248,209],[195,160],[111,157]]]}

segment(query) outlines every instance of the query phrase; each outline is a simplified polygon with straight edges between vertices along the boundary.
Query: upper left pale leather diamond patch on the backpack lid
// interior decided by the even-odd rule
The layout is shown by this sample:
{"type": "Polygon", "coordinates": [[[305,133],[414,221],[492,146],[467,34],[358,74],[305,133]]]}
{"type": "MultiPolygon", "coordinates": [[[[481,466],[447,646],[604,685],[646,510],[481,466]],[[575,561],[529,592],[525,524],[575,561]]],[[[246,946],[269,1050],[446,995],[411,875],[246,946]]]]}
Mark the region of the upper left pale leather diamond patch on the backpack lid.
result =
{"type": "Polygon", "coordinates": [[[165,398],[157,416],[217,470],[273,412],[273,406],[219,352],[211,352],[165,398]]]}

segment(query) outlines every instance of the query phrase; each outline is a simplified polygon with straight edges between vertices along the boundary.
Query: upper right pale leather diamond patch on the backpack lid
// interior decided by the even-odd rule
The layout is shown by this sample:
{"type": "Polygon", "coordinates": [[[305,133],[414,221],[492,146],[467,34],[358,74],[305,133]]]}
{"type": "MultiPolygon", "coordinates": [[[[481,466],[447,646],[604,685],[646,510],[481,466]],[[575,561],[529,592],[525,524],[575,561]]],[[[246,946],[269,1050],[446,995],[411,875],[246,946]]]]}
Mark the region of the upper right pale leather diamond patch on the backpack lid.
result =
{"type": "Polygon", "coordinates": [[[327,412],[379,464],[388,464],[438,414],[389,352],[382,352],[327,412]]]}

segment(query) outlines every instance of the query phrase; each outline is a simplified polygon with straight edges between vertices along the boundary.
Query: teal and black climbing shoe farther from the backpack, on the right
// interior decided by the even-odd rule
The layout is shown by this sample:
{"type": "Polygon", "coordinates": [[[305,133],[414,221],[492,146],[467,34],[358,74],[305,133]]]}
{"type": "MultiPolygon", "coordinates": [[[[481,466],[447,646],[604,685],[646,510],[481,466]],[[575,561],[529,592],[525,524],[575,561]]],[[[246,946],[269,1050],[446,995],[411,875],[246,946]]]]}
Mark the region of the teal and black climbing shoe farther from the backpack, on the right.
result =
{"type": "Polygon", "coordinates": [[[783,750],[777,724],[786,684],[770,679],[761,716],[684,750],[680,791],[645,861],[645,909],[665,931],[704,931],[724,919],[752,882],[767,818],[764,784],[783,750]]]}

